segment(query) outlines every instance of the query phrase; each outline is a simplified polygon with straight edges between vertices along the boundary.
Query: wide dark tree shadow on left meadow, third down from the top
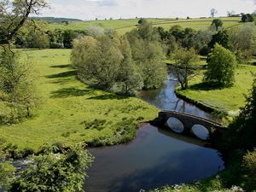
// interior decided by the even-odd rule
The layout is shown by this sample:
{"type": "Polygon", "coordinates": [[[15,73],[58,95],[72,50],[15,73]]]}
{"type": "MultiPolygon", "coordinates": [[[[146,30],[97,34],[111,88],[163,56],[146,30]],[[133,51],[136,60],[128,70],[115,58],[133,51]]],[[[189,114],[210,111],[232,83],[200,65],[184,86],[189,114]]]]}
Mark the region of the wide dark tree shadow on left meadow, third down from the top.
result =
{"type": "Polygon", "coordinates": [[[93,90],[79,90],[76,88],[63,88],[61,90],[52,91],[50,96],[51,98],[67,98],[69,96],[85,96],[89,93],[93,92],[93,90]]]}

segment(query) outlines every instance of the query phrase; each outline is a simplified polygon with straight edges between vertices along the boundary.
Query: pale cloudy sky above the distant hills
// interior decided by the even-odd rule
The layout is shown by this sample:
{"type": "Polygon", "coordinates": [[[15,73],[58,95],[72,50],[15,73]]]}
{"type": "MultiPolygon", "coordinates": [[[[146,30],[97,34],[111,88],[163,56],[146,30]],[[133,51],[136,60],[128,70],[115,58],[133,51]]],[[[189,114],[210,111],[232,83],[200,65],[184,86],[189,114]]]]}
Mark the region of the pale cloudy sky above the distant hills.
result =
{"type": "Polygon", "coordinates": [[[253,13],[253,0],[48,0],[50,9],[41,16],[75,18],[80,20],[127,18],[208,17],[211,9],[216,16],[227,11],[253,13]]]}

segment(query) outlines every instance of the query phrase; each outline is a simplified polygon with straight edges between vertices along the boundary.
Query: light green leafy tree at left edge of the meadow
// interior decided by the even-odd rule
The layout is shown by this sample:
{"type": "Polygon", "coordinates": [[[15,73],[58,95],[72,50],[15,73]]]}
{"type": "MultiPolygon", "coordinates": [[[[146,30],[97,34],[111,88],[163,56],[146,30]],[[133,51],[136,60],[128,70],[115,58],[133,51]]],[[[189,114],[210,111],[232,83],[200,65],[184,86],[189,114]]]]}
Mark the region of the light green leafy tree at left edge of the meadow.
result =
{"type": "Polygon", "coordinates": [[[32,64],[20,61],[17,52],[6,49],[0,61],[0,102],[10,108],[9,117],[1,117],[4,123],[14,123],[20,118],[30,116],[31,108],[40,106],[40,96],[36,89],[37,78],[32,64]],[[25,115],[26,111],[26,115],[25,115]]]}

